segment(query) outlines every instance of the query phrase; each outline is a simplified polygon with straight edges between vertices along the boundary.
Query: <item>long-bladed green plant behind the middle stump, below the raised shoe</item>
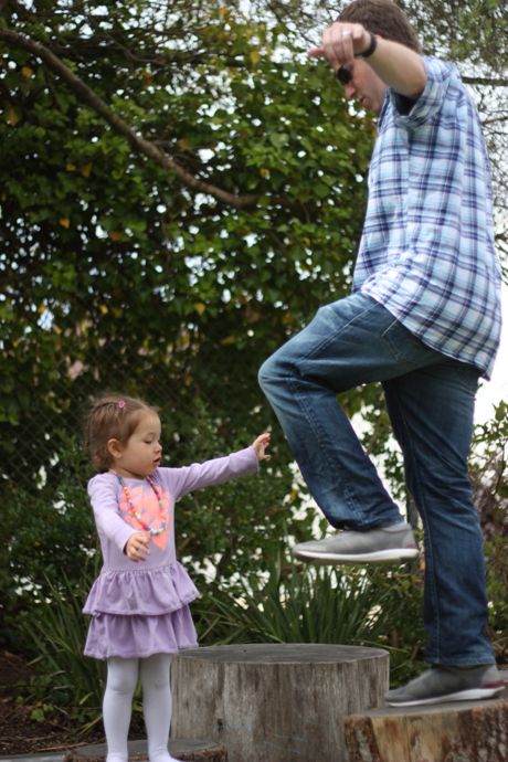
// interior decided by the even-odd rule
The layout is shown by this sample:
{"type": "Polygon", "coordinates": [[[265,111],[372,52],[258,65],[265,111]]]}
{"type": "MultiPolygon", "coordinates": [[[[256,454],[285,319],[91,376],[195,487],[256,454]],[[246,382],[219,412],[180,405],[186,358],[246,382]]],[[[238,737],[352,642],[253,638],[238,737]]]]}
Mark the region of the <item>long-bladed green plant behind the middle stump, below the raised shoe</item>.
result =
{"type": "Polygon", "coordinates": [[[387,648],[392,681],[422,668],[423,583],[416,568],[288,564],[252,570],[242,591],[205,593],[194,603],[202,645],[336,643],[387,648]]]}

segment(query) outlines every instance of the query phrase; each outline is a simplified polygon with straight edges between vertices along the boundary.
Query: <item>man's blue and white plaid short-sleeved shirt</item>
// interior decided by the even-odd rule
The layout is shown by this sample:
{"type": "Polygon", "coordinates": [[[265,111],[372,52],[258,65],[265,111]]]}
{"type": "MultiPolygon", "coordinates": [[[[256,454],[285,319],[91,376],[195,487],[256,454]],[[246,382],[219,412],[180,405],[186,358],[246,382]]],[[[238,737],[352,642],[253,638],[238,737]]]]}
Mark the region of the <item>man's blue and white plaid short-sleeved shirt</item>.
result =
{"type": "Polygon", "coordinates": [[[455,66],[424,64],[420,98],[389,89],[380,114],[353,290],[488,378],[501,327],[489,160],[455,66]]]}

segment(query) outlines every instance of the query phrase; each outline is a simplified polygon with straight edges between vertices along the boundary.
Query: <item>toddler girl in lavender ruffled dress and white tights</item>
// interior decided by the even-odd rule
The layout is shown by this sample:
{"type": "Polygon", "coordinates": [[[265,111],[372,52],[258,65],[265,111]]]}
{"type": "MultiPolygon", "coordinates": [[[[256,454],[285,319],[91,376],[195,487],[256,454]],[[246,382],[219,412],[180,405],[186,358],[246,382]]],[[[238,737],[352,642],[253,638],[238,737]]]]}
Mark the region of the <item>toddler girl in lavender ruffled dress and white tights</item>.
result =
{"type": "Polygon", "coordinates": [[[127,762],[138,677],[149,760],[170,762],[170,655],[197,646],[189,603],[198,596],[176,559],[174,502],[193,489],[255,474],[268,457],[269,434],[225,457],[165,468],[157,412],[141,400],[110,395],[93,404],[86,444],[99,472],[88,495],[104,565],[83,610],[92,616],[85,654],[107,659],[107,762],[127,762]]]}

